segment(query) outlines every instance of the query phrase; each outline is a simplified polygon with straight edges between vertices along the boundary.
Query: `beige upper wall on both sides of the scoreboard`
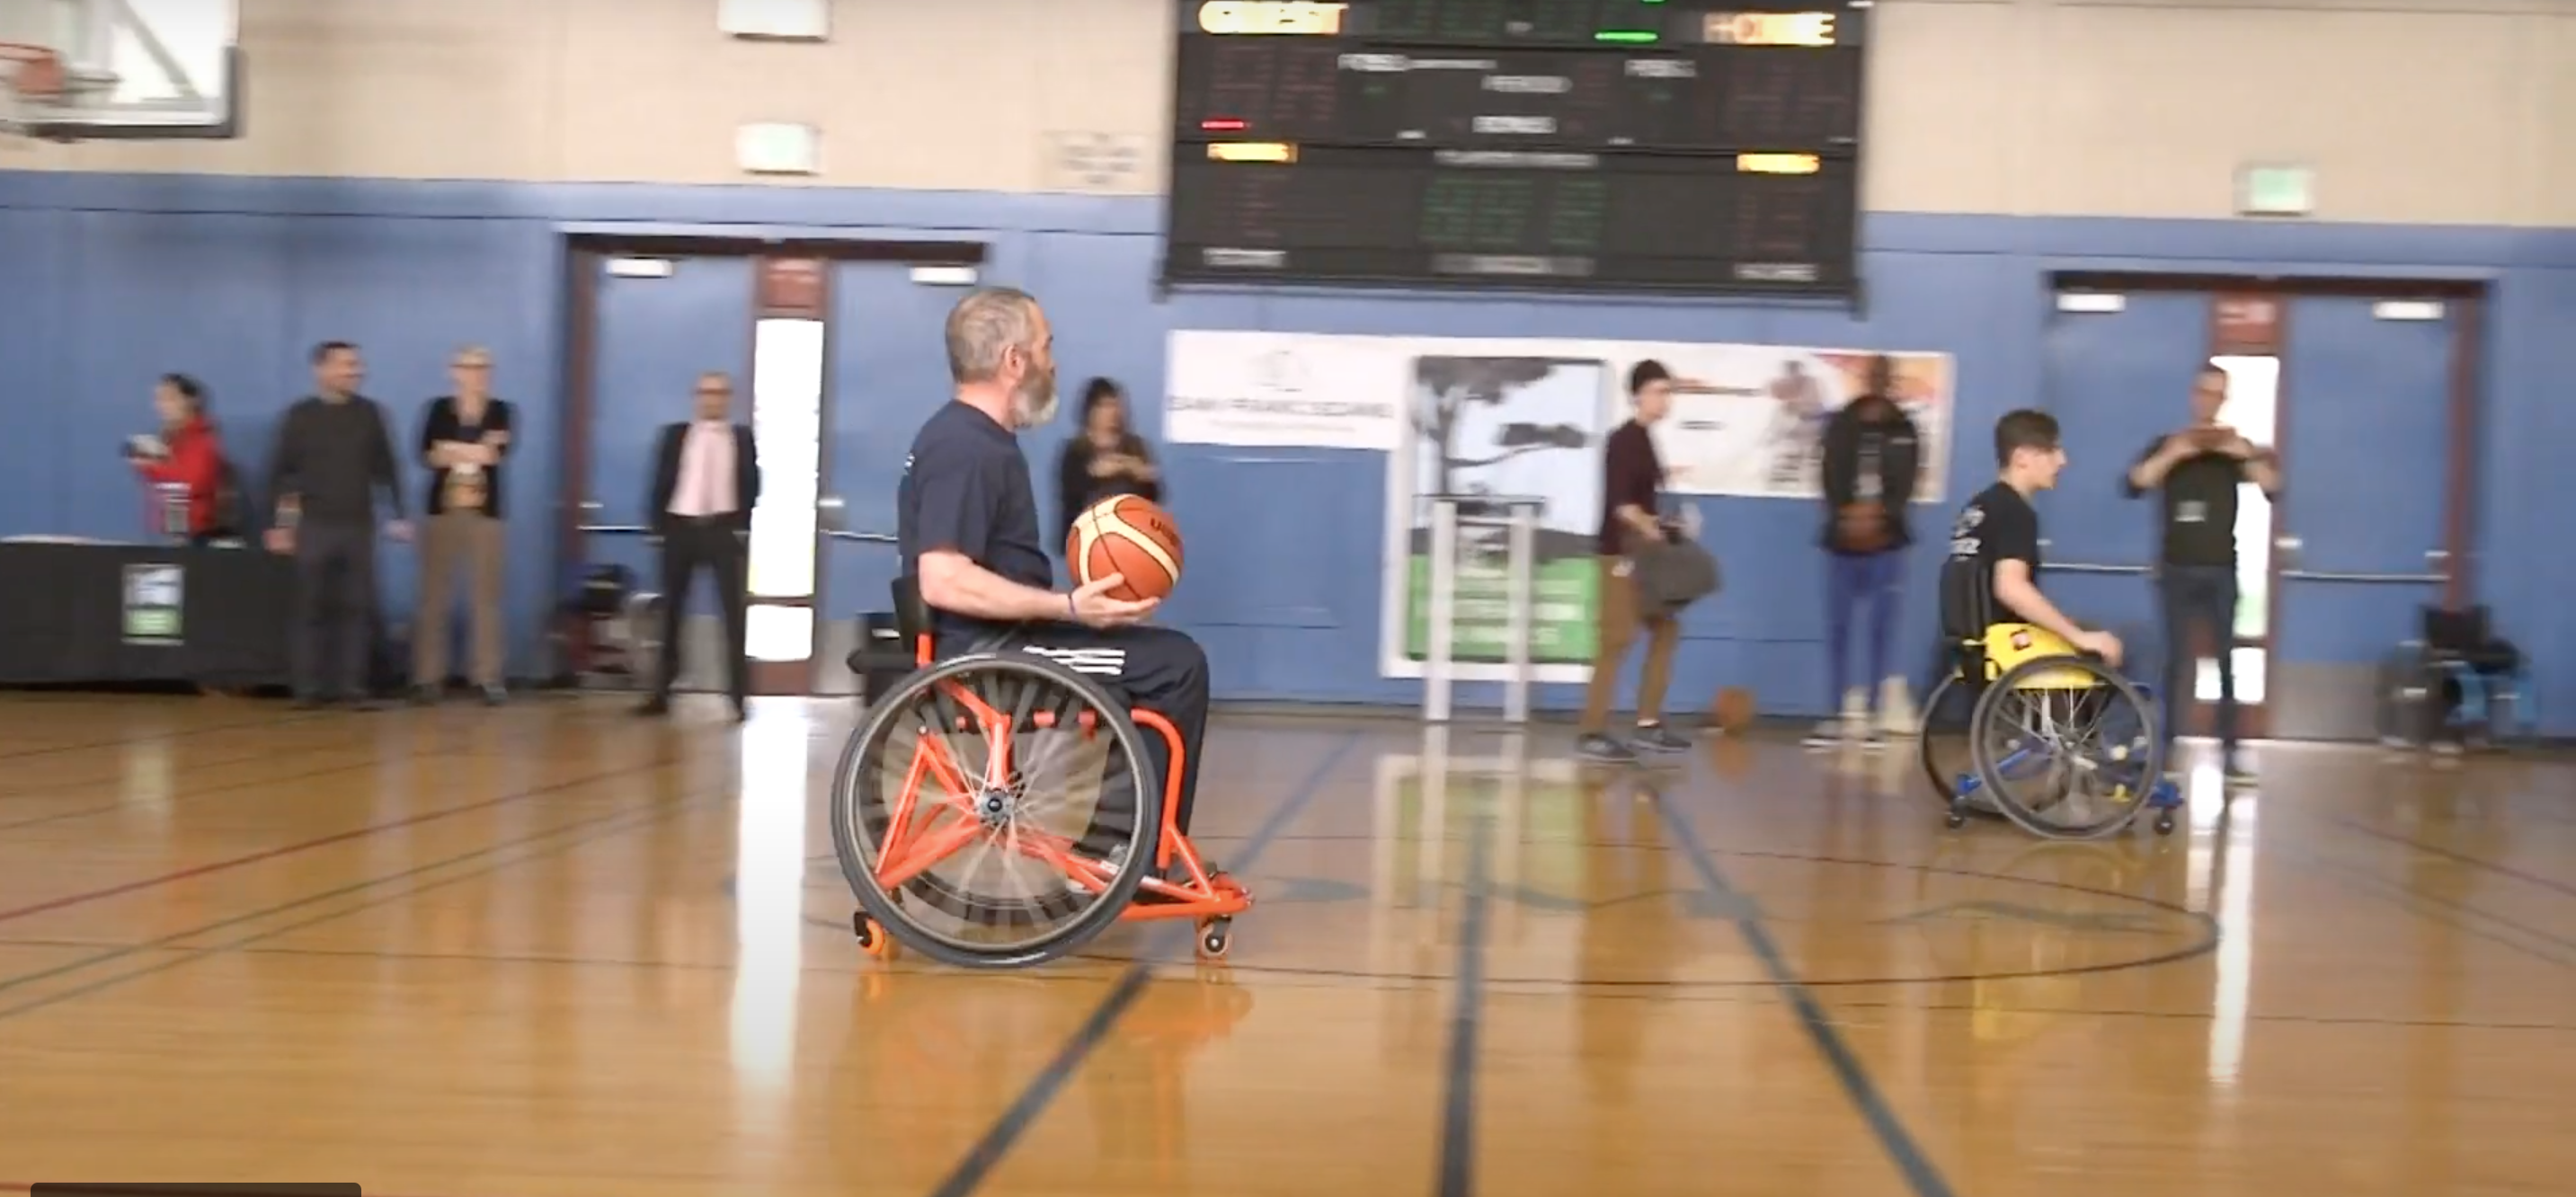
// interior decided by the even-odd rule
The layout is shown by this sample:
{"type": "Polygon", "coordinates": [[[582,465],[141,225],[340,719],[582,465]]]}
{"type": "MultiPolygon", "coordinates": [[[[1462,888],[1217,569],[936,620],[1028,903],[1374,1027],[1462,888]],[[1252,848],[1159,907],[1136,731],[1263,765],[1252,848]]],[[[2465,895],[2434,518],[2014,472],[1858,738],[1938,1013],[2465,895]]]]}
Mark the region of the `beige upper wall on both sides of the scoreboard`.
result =
{"type": "MultiPolygon", "coordinates": [[[[835,0],[734,44],[714,0],[242,0],[250,136],[0,167],[742,183],[732,131],[824,131],[822,185],[1077,190],[1059,136],[1162,178],[1164,0],[835,0]]],[[[2226,216],[2239,162],[2339,221],[2576,224],[2576,0],[1880,0],[1868,203],[2226,216]]]]}

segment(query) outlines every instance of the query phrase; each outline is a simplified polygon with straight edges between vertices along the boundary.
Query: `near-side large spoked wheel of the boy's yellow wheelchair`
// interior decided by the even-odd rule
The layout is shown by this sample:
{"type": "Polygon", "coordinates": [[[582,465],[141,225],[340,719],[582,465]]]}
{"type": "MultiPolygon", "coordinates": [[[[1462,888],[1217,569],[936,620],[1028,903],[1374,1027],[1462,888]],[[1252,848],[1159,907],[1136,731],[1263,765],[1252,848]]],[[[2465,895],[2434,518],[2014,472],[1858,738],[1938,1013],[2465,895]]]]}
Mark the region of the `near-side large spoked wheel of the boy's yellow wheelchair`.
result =
{"type": "Polygon", "coordinates": [[[2087,656],[2038,656],[1986,687],[1968,723],[1978,793],[2045,839],[2128,829],[2164,780],[2156,708],[2087,656]]]}

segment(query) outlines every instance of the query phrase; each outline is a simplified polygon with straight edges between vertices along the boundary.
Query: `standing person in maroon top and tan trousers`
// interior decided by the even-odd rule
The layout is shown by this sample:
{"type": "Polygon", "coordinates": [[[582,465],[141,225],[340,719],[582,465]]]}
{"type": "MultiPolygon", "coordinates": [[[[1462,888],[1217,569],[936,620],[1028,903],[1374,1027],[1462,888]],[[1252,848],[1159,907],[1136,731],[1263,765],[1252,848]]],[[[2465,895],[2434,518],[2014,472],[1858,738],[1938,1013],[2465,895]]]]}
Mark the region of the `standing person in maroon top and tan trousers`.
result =
{"type": "Polygon", "coordinates": [[[1600,587],[1600,649],[1592,656],[1592,687],[1584,692],[1582,736],[1574,752],[1589,759],[1625,762],[1646,752],[1682,752],[1687,739],[1664,726],[1664,682],[1672,674],[1672,649],[1682,641],[1682,626],[1664,613],[1643,613],[1636,602],[1636,564],[1628,548],[1638,538],[1664,538],[1669,525],[1656,517],[1654,497],[1664,489],[1664,461],[1654,453],[1646,432],[1672,407],[1674,391],[1703,391],[1703,384],[1674,378],[1659,360],[1641,360],[1628,371],[1628,394],[1636,399],[1636,417],[1618,425],[1602,443],[1602,587],[1600,587]],[[1620,664],[1636,633],[1646,633],[1646,669],[1636,680],[1636,731],[1620,741],[1610,736],[1610,695],[1618,690],[1620,664]]]}

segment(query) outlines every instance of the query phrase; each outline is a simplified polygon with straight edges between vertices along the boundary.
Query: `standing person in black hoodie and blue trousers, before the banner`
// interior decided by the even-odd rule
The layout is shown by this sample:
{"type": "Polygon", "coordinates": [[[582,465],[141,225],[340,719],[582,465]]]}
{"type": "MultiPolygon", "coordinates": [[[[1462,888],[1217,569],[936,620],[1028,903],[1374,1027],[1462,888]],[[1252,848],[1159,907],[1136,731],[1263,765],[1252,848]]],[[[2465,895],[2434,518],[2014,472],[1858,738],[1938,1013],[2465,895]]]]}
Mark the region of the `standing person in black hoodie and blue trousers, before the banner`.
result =
{"type": "Polygon", "coordinates": [[[1896,605],[1906,577],[1906,499],[1922,471],[1922,438],[1893,389],[1886,355],[1870,360],[1870,389],[1834,412],[1824,427],[1824,659],[1826,695],[1839,716],[1808,736],[1826,747],[1860,739],[1878,747],[1878,700],[1888,677],[1888,641],[1896,633],[1896,605]],[[1868,605],[1870,672],[1862,692],[1852,692],[1852,623],[1868,605]]]}

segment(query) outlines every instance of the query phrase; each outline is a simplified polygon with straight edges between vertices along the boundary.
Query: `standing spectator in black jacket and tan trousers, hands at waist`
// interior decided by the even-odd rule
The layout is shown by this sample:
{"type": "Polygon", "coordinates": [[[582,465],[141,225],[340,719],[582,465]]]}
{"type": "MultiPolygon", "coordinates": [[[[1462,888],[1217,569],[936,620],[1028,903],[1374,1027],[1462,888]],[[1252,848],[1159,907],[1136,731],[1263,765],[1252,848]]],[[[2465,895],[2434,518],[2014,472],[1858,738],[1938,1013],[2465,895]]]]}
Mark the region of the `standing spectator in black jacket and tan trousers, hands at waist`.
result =
{"type": "Polygon", "coordinates": [[[456,394],[430,399],[420,420],[420,461],[430,466],[428,515],[420,553],[420,613],[412,615],[412,698],[435,703],[448,685],[448,618],[456,579],[466,579],[466,618],[474,623],[469,680],[484,703],[510,698],[502,687],[502,479],[510,453],[510,404],[492,396],[492,355],[466,348],[448,366],[456,394]]]}

